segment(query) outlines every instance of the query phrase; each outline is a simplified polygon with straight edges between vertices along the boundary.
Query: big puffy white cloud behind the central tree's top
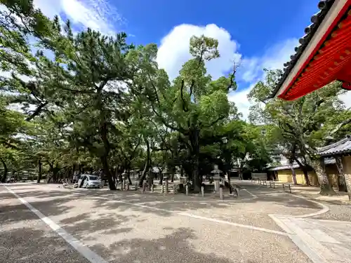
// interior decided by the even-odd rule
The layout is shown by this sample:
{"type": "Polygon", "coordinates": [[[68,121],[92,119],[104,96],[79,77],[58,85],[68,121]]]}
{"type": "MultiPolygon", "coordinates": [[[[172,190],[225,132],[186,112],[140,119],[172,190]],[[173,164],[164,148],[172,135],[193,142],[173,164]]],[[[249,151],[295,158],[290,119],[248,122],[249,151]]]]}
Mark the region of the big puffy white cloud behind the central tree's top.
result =
{"type": "Polygon", "coordinates": [[[174,79],[182,65],[191,58],[189,53],[189,41],[191,36],[210,36],[218,39],[220,58],[206,63],[208,73],[213,79],[223,76],[232,68],[234,60],[239,60],[237,42],[231,39],[227,30],[211,24],[204,27],[196,25],[178,25],[174,27],[163,39],[157,53],[159,67],[164,68],[171,79],[174,79]]]}

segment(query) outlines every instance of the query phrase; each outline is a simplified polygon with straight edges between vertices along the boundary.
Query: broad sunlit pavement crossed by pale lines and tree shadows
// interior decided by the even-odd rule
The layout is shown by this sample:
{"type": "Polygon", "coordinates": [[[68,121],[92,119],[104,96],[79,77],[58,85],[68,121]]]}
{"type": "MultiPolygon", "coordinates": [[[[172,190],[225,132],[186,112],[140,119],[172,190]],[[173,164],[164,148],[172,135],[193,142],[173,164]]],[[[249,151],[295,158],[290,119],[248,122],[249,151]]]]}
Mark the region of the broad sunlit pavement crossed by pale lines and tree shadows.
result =
{"type": "MultiPolygon", "coordinates": [[[[314,249],[320,248],[318,244],[304,249],[303,238],[300,243],[294,240],[299,230],[287,230],[291,224],[301,228],[300,223],[286,223],[284,219],[298,220],[303,215],[318,214],[323,208],[272,189],[252,184],[244,184],[244,188],[238,198],[225,196],[220,201],[218,196],[209,194],[202,197],[69,190],[46,184],[2,185],[0,259],[94,263],[316,262],[314,249]]],[[[317,234],[319,241],[328,235],[326,231],[317,234]]],[[[307,238],[316,236],[312,233],[307,238]]],[[[344,242],[342,238],[347,236],[340,240],[338,235],[331,238],[344,242]]],[[[347,246],[342,252],[344,261],[332,254],[322,258],[324,262],[347,262],[347,246]]]]}

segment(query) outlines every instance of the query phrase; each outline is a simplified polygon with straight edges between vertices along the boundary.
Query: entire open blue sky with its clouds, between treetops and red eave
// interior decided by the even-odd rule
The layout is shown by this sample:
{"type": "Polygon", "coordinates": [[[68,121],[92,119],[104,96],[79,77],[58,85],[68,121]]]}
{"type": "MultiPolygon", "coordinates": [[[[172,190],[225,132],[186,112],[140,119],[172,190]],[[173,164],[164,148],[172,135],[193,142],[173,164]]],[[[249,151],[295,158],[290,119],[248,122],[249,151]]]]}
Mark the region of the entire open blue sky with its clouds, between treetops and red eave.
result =
{"type": "Polygon", "coordinates": [[[157,43],[159,67],[175,77],[190,58],[190,36],[205,34],[219,41],[221,58],[208,63],[214,77],[230,71],[241,60],[238,90],[229,99],[246,118],[247,93],[263,78],[263,67],[282,68],[298,38],[317,13],[319,0],[34,0],[53,17],[69,18],[74,28],[92,27],[105,34],[125,31],[136,44],[157,43]]]}

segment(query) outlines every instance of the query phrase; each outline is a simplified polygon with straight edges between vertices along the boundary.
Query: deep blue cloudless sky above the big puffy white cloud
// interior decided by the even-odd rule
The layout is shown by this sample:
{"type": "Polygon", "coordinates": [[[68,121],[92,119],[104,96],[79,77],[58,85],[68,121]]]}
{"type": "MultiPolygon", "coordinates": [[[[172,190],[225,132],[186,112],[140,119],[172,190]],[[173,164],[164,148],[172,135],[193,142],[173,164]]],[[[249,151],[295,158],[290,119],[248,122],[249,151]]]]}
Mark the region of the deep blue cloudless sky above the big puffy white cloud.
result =
{"type": "Polygon", "coordinates": [[[138,43],[159,43],[173,27],[183,23],[216,24],[230,32],[239,42],[240,52],[247,56],[260,55],[274,43],[302,36],[311,16],[318,11],[318,2],[111,0],[126,19],[123,29],[134,34],[138,43]]]}

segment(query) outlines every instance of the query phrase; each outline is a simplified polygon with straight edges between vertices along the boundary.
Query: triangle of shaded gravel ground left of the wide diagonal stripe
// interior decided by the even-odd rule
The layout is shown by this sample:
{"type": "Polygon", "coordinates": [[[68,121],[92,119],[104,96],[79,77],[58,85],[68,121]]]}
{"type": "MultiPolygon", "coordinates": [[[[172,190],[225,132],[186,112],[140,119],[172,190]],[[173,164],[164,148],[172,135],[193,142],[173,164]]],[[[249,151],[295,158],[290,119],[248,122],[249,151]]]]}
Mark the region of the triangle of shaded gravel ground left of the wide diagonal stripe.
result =
{"type": "Polygon", "coordinates": [[[2,187],[0,229],[1,263],[88,263],[2,187]]]}

